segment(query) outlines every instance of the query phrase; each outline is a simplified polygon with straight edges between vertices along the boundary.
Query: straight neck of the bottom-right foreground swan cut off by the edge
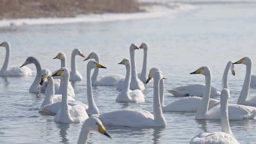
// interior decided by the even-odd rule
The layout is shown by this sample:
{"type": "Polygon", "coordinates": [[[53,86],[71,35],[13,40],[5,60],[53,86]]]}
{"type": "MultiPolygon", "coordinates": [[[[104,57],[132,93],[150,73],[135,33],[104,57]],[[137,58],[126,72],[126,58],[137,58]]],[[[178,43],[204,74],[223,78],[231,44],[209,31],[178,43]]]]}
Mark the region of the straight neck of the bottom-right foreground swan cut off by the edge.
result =
{"type": "Polygon", "coordinates": [[[229,126],[228,99],[225,97],[220,97],[220,113],[221,131],[233,135],[229,126]]]}

